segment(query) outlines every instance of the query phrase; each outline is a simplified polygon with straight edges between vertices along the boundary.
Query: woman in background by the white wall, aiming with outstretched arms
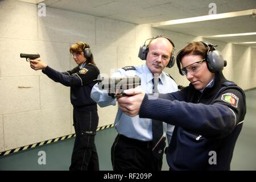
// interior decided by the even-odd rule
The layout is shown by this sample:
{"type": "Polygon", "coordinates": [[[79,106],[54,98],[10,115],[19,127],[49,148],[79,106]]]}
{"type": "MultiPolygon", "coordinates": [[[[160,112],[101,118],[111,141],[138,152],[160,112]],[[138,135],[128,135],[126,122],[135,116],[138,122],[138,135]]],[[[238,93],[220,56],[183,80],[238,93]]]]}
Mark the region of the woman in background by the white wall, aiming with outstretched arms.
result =
{"type": "Polygon", "coordinates": [[[71,87],[73,125],[76,139],[69,170],[99,170],[94,136],[98,126],[97,104],[90,98],[90,92],[100,71],[96,67],[88,44],[78,42],[69,49],[77,67],[71,71],[58,72],[40,59],[31,60],[34,70],[42,69],[53,81],[71,87]]]}

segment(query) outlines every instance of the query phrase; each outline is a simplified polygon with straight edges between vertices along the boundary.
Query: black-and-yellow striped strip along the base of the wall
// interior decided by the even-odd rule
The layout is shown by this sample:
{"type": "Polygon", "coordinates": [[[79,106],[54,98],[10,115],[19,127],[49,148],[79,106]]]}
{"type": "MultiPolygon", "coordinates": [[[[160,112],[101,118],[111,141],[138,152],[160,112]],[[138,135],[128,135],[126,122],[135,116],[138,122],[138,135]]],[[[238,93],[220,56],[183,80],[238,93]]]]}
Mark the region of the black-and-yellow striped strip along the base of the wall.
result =
{"type": "MultiPolygon", "coordinates": [[[[108,129],[110,127],[114,127],[114,124],[98,127],[96,131],[108,129]]],[[[24,150],[27,150],[29,148],[35,148],[37,146],[43,146],[44,144],[58,142],[60,140],[65,140],[65,139],[69,139],[69,138],[72,138],[72,137],[76,137],[76,134],[65,135],[63,137],[53,138],[53,139],[49,139],[49,140],[46,140],[46,141],[43,141],[43,142],[29,144],[29,145],[24,146],[24,147],[18,147],[18,148],[14,148],[14,149],[11,149],[11,150],[3,151],[3,152],[0,152],[0,156],[12,154],[12,153],[15,153],[15,152],[18,152],[18,151],[24,151],[24,150]]]]}

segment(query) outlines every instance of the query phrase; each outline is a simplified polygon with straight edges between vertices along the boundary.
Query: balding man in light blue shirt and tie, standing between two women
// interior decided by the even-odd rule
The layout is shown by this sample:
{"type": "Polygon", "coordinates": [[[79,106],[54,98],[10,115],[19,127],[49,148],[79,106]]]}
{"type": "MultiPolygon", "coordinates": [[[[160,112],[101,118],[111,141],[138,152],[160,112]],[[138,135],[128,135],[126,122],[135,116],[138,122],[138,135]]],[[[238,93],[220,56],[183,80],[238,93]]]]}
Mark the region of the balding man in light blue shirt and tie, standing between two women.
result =
{"type": "MultiPolygon", "coordinates": [[[[145,45],[144,45],[145,46],[145,45]]],[[[158,88],[159,93],[169,93],[177,91],[177,85],[170,75],[163,72],[163,69],[172,63],[174,57],[174,44],[164,36],[151,38],[146,50],[144,59],[146,64],[137,67],[125,67],[118,69],[112,77],[139,76],[141,78],[141,89],[146,93],[152,93],[154,87],[154,76],[156,82],[154,88],[158,88]]],[[[141,57],[141,59],[143,59],[141,57]]],[[[173,64],[172,64],[173,65],[173,64]]],[[[94,85],[91,97],[101,107],[115,105],[116,100],[110,97],[106,90],[100,90],[98,84],[94,85]]],[[[158,122],[159,123],[159,122],[158,122]]],[[[162,123],[162,135],[168,134],[171,138],[174,126],[162,123]]],[[[112,165],[117,171],[125,170],[151,170],[157,171],[162,168],[162,159],[165,142],[159,138],[160,142],[156,146],[152,142],[152,119],[129,117],[118,109],[114,122],[118,132],[112,146],[112,165]]],[[[158,131],[154,131],[154,134],[158,131]]]]}

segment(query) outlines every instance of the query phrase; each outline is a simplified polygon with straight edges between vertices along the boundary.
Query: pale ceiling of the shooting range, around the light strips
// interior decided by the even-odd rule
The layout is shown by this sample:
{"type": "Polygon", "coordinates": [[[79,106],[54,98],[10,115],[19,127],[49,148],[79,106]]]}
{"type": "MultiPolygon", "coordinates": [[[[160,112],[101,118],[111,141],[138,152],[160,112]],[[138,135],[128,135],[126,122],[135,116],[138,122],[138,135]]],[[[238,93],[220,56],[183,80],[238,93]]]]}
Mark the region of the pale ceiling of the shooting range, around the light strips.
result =
{"type": "MultiPolygon", "coordinates": [[[[251,9],[255,9],[253,12],[256,14],[256,0],[46,0],[41,2],[56,9],[135,24],[158,23],[209,15],[209,10],[212,9],[212,6],[209,7],[210,3],[215,3],[217,14],[251,9]]],[[[253,15],[250,14],[193,23],[172,24],[159,26],[158,28],[203,37],[238,34],[256,32],[256,18],[253,18],[253,15]]],[[[210,39],[236,43],[256,42],[256,35],[210,39]]],[[[243,45],[256,47],[256,43],[243,45]]]]}

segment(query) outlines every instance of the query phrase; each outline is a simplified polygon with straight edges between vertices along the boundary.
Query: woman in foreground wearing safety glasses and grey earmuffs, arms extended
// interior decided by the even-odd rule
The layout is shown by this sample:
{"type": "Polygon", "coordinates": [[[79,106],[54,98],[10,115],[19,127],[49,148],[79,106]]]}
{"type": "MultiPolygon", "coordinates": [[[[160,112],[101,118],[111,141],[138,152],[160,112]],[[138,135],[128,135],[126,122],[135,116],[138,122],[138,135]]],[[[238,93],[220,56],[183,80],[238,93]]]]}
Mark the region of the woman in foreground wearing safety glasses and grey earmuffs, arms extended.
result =
{"type": "Polygon", "coordinates": [[[171,170],[230,170],[246,113],[245,94],[222,75],[225,61],[215,47],[192,42],[178,53],[179,71],[191,82],[186,88],[159,98],[129,89],[125,93],[134,96],[118,99],[131,117],[175,125],[167,150],[171,170]]]}

